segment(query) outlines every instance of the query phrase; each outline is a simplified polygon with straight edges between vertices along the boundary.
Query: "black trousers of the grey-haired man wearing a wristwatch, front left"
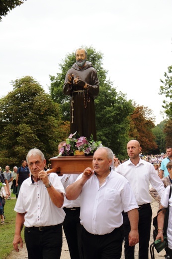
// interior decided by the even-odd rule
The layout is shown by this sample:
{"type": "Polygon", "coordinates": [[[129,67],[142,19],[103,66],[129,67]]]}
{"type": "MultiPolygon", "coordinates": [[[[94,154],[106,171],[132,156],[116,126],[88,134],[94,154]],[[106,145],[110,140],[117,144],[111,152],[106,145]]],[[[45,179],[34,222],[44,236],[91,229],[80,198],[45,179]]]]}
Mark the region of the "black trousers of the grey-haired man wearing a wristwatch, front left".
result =
{"type": "Polygon", "coordinates": [[[60,259],[62,251],[62,224],[24,229],[28,259],[60,259]]]}

